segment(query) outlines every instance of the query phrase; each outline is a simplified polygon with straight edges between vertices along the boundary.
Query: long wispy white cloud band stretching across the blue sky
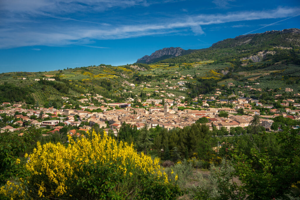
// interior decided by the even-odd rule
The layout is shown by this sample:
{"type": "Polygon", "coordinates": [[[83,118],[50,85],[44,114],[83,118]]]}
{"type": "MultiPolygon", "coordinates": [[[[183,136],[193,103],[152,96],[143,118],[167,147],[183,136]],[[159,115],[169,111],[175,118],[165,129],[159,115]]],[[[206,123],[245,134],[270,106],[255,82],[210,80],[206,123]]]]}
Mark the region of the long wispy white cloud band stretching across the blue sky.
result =
{"type": "MultiPolygon", "coordinates": [[[[22,4],[23,1],[19,1],[22,4]]],[[[88,0],[87,4],[85,5],[89,5],[89,2],[91,1],[92,0],[88,0]]],[[[104,1],[108,2],[108,0],[99,0],[99,2],[104,1]]],[[[41,0],[41,2],[35,0],[34,2],[38,4],[34,5],[34,7],[44,8],[46,6],[54,6],[52,3],[49,3],[49,1],[45,0],[41,0]]],[[[73,1],[70,0],[70,2],[73,1]]],[[[115,4],[113,4],[113,2],[117,2],[116,0],[110,0],[109,2],[110,3],[106,4],[107,7],[116,6],[115,4]]],[[[122,1],[121,4],[122,5],[118,6],[130,6],[136,4],[147,6],[149,2],[146,3],[142,0],[128,0],[124,2],[122,1]]],[[[75,8],[73,8],[73,10],[78,9],[77,7],[81,7],[81,5],[77,5],[75,8]]],[[[8,9],[7,6],[4,6],[4,8],[8,9]]],[[[13,9],[17,10],[18,8],[13,9]]],[[[26,8],[24,10],[26,10],[26,8]]],[[[32,11],[34,10],[33,8],[28,8],[27,10],[34,13],[34,11],[32,11]]],[[[142,37],[147,35],[174,33],[200,35],[205,34],[202,28],[206,25],[217,25],[227,22],[242,22],[259,19],[279,19],[292,17],[297,15],[298,13],[300,13],[300,8],[298,7],[278,7],[277,9],[262,11],[239,11],[229,12],[225,14],[185,15],[175,18],[165,17],[148,22],[131,21],[127,22],[127,24],[125,24],[126,22],[122,21],[122,23],[120,24],[113,25],[109,25],[106,22],[104,22],[104,24],[102,22],[90,23],[93,22],[90,20],[78,20],[83,23],[70,24],[66,21],[74,20],[73,18],[68,17],[57,17],[61,20],[55,23],[43,23],[38,21],[38,19],[33,18],[32,22],[26,22],[25,24],[22,22],[15,22],[14,26],[7,25],[4,26],[4,28],[0,28],[0,48],[6,49],[19,46],[35,45],[64,46],[69,44],[85,45],[92,48],[107,48],[101,46],[92,46],[92,41],[114,40],[131,37],[142,37]],[[37,25],[33,26],[33,23],[36,23],[37,25]]],[[[43,14],[43,16],[47,17],[46,19],[49,19],[49,17],[53,17],[54,14],[43,14]]]]}

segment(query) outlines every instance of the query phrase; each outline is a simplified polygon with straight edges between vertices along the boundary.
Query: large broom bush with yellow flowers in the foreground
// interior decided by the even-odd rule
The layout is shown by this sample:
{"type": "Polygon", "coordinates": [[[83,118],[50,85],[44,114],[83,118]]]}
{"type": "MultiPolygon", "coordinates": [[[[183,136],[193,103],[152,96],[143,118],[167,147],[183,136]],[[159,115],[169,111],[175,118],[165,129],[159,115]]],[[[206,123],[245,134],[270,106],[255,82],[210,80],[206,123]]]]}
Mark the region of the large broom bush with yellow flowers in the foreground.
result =
{"type": "MultiPolygon", "coordinates": [[[[181,193],[159,160],[137,153],[132,144],[95,132],[69,141],[38,143],[25,155],[29,175],[18,194],[25,199],[174,199],[181,193]]],[[[2,195],[9,194],[5,188],[2,195]]]]}

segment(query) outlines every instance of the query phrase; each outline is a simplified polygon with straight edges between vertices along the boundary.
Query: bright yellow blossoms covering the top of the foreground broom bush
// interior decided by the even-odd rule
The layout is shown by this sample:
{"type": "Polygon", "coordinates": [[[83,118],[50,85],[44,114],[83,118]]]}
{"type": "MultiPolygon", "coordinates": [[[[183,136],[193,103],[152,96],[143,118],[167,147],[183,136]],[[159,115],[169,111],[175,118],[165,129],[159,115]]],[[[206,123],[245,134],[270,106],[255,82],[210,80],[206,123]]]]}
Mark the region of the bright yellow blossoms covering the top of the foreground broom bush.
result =
{"type": "MultiPolygon", "coordinates": [[[[38,186],[38,196],[44,198],[49,197],[46,195],[69,196],[72,187],[70,183],[76,183],[82,174],[90,176],[90,169],[98,165],[110,166],[124,177],[128,174],[129,177],[133,176],[133,172],[141,172],[158,179],[163,178],[164,182],[168,183],[168,175],[162,173],[159,158],[152,160],[148,155],[137,153],[133,144],[118,142],[107,134],[103,136],[95,132],[88,132],[88,134],[92,134],[93,139],[82,137],[74,141],[71,136],[68,136],[70,141],[68,145],[60,143],[41,145],[38,142],[32,154],[25,154],[26,158],[30,158],[25,164],[30,172],[26,179],[28,183],[38,186]]],[[[16,162],[19,163],[20,160],[16,162]]],[[[13,199],[24,199],[22,196],[13,196],[13,191],[19,190],[8,181],[1,187],[0,194],[5,193],[13,199]]],[[[21,193],[20,190],[19,194],[21,193]]]]}

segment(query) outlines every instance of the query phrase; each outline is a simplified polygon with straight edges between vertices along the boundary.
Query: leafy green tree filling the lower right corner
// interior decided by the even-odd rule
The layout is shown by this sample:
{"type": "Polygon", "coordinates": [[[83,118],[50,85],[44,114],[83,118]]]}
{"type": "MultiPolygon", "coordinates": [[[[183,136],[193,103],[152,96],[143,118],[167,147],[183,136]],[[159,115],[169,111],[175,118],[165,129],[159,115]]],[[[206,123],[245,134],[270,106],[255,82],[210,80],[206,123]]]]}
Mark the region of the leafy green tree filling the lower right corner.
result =
{"type": "Polygon", "coordinates": [[[251,199],[290,198],[288,196],[291,195],[291,189],[299,188],[297,182],[300,180],[298,132],[288,129],[278,136],[274,133],[253,135],[249,144],[255,145],[250,148],[247,155],[240,151],[241,147],[235,148],[232,158],[234,175],[242,182],[238,187],[240,194],[247,195],[251,199]]]}

